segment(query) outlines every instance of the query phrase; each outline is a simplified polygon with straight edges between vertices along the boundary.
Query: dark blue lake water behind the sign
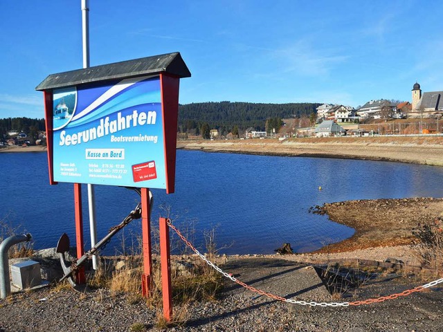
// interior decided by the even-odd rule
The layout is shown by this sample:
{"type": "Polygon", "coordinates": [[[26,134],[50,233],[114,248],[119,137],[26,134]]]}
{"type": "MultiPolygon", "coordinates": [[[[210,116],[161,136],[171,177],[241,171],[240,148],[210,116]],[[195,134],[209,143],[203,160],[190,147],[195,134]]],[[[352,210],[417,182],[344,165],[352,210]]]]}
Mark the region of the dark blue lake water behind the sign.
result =
{"type": "MultiPolygon", "coordinates": [[[[33,235],[34,248],[55,247],[63,232],[75,244],[73,185],[48,184],[45,153],[0,154],[0,219],[33,235]]],[[[316,250],[352,236],[354,230],[309,208],[353,199],[442,197],[443,167],[364,160],[295,158],[177,151],[176,192],[153,190],[152,223],[169,216],[191,228],[203,248],[204,231],[215,228],[226,254],[272,253],[282,243],[297,252],[316,250]],[[321,186],[323,190],[318,190],[321,186]]],[[[86,185],[84,239],[89,243],[86,185]]],[[[139,197],[121,187],[96,186],[98,239],[134,209],[139,197]]],[[[141,233],[133,221],[125,243],[141,233]]],[[[86,244],[86,249],[89,249],[86,244]]],[[[112,239],[105,253],[121,251],[112,239]]]]}

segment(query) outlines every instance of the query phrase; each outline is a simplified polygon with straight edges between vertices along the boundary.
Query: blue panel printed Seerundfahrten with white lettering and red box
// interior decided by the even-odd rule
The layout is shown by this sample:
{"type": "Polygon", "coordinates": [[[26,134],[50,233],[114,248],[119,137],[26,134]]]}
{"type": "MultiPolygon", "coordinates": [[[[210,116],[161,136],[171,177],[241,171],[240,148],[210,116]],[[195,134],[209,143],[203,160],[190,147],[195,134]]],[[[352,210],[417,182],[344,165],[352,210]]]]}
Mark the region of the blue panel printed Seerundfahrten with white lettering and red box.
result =
{"type": "Polygon", "coordinates": [[[166,189],[159,77],[53,90],[57,182],[166,189]]]}

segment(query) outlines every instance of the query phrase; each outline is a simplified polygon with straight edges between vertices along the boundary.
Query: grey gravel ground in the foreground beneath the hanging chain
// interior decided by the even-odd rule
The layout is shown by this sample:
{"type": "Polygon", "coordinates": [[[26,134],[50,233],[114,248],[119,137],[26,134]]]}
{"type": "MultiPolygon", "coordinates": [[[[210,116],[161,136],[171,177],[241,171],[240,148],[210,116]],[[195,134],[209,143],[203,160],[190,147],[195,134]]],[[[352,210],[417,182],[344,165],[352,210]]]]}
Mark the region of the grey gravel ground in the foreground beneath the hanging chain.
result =
{"type": "MultiPolygon", "coordinates": [[[[374,255],[374,258],[383,255],[384,252],[379,253],[378,257],[374,255]]],[[[305,273],[308,269],[306,264],[287,260],[286,256],[228,257],[224,269],[264,291],[317,302],[352,302],[400,293],[426,283],[410,277],[385,276],[367,282],[337,299],[325,292],[321,284],[314,287],[303,284],[307,277],[300,277],[296,271],[305,273]],[[287,295],[288,289],[299,288],[300,291],[287,295]],[[309,299],[311,296],[316,298],[309,299]]],[[[442,287],[437,286],[376,304],[323,308],[297,306],[264,296],[257,297],[255,293],[227,280],[219,299],[174,308],[174,313],[184,317],[186,322],[172,326],[170,330],[443,331],[442,291],[442,287]]],[[[70,288],[60,291],[56,288],[41,288],[0,300],[1,332],[161,331],[157,327],[160,316],[161,308],[152,308],[143,299],[134,301],[134,296],[112,293],[106,289],[78,293],[70,288]],[[143,329],[136,329],[141,326],[143,329]]]]}

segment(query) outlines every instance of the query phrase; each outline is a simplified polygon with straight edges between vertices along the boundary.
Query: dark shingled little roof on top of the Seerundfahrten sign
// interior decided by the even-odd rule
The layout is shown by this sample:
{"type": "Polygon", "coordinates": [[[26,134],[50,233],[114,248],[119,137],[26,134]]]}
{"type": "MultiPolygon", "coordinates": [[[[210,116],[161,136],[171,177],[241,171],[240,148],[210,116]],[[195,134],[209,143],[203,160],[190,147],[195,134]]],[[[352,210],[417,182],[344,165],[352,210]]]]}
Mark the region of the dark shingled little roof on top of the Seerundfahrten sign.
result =
{"type": "Polygon", "coordinates": [[[156,75],[159,73],[169,73],[178,77],[190,77],[191,75],[180,53],[175,52],[52,74],[46,77],[35,90],[43,91],[91,82],[156,75]]]}

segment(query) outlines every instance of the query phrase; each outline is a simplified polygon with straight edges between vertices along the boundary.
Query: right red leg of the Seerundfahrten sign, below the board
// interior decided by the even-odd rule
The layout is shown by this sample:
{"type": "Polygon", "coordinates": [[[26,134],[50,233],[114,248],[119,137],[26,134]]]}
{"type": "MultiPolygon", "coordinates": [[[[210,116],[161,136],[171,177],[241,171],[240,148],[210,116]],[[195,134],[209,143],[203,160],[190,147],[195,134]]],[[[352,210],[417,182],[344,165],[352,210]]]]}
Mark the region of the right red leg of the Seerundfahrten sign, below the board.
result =
{"type": "Polygon", "coordinates": [[[150,190],[141,188],[141,232],[143,245],[143,275],[141,276],[141,292],[149,297],[152,275],[151,225],[150,225],[150,190]]]}

